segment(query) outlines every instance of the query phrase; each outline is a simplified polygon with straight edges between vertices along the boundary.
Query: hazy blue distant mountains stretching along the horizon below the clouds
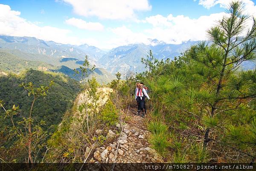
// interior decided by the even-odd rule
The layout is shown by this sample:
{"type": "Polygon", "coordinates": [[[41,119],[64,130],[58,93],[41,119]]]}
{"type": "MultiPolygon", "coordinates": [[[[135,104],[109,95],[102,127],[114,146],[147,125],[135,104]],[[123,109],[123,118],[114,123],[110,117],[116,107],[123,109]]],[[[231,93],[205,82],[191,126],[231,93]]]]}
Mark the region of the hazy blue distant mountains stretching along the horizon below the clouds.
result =
{"type": "MultiPolygon", "coordinates": [[[[79,68],[83,63],[84,56],[88,55],[90,64],[95,64],[97,67],[96,76],[102,77],[102,80],[104,79],[103,77],[106,77],[109,81],[113,79],[113,74],[118,71],[121,73],[126,73],[129,70],[133,72],[144,71],[145,68],[141,64],[141,58],[146,58],[150,49],[153,51],[155,58],[166,60],[167,58],[173,59],[175,56],[180,55],[180,52],[184,52],[191,45],[198,43],[198,41],[187,41],[181,44],[167,44],[157,39],[149,39],[149,41],[151,43],[148,45],[143,43],[129,44],[106,52],[87,44],[75,46],[43,41],[33,37],[0,35],[0,51],[2,55],[0,69],[4,69],[3,64],[6,61],[10,65],[9,69],[5,67],[6,71],[14,71],[10,70],[10,68],[14,69],[23,63],[25,68],[26,66],[32,67],[29,66],[29,61],[33,67],[63,72],[72,77],[72,69],[79,68]],[[19,65],[16,65],[15,62],[11,63],[12,58],[18,61],[16,63],[19,65]],[[35,61],[38,63],[35,63],[35,61]]],[[[247,63],[244,67],[252,69],[255,64],[247,63]]],[[[15,71],[17,72],[17,70],[16,68],[15,71]]]]}

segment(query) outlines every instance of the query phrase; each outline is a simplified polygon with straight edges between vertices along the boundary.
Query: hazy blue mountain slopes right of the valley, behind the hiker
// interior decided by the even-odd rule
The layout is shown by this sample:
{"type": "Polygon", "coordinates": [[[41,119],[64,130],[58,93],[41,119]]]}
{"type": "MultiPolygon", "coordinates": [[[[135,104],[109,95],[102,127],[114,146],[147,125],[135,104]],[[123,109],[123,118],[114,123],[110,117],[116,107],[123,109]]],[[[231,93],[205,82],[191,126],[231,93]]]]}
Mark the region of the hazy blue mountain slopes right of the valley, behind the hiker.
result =
{"type": "Polygon", "coordinates": [[[145,68],[141,63],[141,58],[146,58],[150,49],[155,58],[166,60],[167,58],[174,59],[191,45],[198,43],[198,41],[187,41],[182,44],[167,44],[157,39],[150,41],[149,45],[138,43],[113,48],[100,58],[99,63],[111,73],[118,71],[125,73],[129,70],[142,72],[145,68]]]}

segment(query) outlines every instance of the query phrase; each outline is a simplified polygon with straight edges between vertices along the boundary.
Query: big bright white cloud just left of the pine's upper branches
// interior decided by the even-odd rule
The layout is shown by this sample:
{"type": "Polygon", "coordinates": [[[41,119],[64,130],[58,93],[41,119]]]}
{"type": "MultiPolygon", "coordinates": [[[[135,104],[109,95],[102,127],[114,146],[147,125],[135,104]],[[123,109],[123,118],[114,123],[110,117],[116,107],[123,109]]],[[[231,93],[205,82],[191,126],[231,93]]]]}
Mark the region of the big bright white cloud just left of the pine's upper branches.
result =
{"type": "Polygon", "coordinates": [[[157,38],[167,43],[182,43],[182,41],[207,40],[206,31],[216,24],[216,20],[221,19],[224,12],[201,16],[198,19],[178,15],[174,17],[169,14],[167,17],[160,15],[147,17],[146,21],[151,23],[153,28],[146,29],[145,32],[151,38],[157,38]],[[160,18],[160,20],[157,20],[160,18]]]}

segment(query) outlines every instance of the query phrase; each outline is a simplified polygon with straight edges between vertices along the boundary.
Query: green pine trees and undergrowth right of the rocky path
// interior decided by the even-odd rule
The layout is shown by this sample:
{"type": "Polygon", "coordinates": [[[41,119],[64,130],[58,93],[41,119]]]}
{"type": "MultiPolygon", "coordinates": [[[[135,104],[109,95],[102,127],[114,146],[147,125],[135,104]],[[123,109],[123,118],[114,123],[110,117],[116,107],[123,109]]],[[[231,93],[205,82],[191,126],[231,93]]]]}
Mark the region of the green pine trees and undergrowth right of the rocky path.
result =
{"type": "Polygon", "coordinates": [[[172,162],[255,162],[256,70],[240,66],[256,60],[256,20],[245,13],[233,1],[207,31],[209,43],[140,75],[151,90],[151,119],[169,126],[172,162]]]}

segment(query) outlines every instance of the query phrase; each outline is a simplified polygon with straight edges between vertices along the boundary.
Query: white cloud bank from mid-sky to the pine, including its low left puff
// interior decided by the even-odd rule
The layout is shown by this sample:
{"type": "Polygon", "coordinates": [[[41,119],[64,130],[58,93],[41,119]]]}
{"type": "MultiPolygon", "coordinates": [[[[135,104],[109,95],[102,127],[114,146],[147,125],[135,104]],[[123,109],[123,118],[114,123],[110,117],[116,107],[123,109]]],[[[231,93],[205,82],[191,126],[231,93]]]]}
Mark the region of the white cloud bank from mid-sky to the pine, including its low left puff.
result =
{"type": "Polygon", "coordinates": [[[164,17],[160,14],[146,17],[140,23],[150,23],[151,28],[141,32],[133,32],[126,26],[111,29],[116,35],[109,40],[112,47],[130,44],[145,43],[149,44],[149,38],[165,41],[166,43],[180,44],[183,41],[202,41],[207,40],[207,29],[216,24],[216,20],[221,19],[226,13],[210,14],[192,19],[184,15],[173,16],[169,14],[164,17]]]}

